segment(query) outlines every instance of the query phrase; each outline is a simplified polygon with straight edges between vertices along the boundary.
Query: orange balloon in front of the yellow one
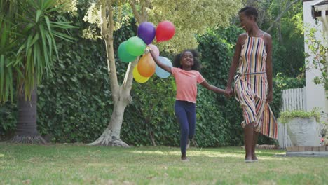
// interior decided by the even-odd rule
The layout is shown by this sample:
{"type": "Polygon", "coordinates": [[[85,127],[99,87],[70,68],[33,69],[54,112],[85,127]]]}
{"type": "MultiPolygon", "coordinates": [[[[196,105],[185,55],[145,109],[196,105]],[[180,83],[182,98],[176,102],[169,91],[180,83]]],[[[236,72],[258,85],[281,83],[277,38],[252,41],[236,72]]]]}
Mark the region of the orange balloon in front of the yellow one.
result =
{"type": "Polygon", "coordinates": [[[155,73],[156,64],[150,53],[143,55],[138,62],[138,71],[141,76],[150,77],[155,73]]]}

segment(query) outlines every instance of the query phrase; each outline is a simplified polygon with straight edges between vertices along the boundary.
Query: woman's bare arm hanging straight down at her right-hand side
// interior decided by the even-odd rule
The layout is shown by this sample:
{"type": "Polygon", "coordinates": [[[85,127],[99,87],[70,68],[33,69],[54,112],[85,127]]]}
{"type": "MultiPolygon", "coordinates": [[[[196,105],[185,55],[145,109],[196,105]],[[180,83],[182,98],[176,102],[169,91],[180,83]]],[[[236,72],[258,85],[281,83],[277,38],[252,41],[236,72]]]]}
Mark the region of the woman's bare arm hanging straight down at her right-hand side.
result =
{"type": "Polygon", "coordinates": [[[272,39],[270,34],[265,34],[266,41],[266,77],[268,78],[268,95],[266,102],[273,100],[273,83],[272,83],[272,39]]]}

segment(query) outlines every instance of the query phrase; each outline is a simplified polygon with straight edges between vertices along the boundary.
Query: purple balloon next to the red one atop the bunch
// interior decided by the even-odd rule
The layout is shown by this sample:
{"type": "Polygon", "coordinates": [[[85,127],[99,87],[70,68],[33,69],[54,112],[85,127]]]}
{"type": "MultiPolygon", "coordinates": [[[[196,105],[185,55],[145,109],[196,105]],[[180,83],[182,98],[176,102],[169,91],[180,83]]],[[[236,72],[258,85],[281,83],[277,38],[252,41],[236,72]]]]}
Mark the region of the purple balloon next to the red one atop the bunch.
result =
{"type": "Polygon", "coordinates": [[[144,43],[151,43],[156,36],[156,28],[153,23],[142,22],[138,27],[138,36],[144,43]]]}

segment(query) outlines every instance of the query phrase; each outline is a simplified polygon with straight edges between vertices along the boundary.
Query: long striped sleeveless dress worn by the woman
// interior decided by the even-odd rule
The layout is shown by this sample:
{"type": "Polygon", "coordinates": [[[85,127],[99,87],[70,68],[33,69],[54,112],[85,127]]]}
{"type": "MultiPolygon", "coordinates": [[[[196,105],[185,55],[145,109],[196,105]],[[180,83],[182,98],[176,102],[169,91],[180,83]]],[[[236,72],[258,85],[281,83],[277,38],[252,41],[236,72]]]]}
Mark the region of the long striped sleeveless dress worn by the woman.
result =
{"type": "Polygon", "coordinates": [[[261,37],[247,36],[242,45],[238,75],[235,76],[235,95],[242,107],[242,128],[254,123],[254,130],[277,139],[278,124],[266,102],[266,46],[261,37]]]}

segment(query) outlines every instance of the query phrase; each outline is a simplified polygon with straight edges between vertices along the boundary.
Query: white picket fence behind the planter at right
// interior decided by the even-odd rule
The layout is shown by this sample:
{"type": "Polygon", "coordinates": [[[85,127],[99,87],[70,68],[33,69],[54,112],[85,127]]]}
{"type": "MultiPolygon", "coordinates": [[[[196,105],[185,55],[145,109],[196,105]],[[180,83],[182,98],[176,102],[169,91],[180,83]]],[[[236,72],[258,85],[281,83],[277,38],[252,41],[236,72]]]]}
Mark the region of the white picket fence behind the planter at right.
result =
{"type": "MultiPolygon", "coordinates": [[[[306,111],[306,88],[282,90],[282,111],[306,111]]],[[[287,126],[278,122],[278,142],[281,149],[292,146],[287,135],[287,126]]]]}

